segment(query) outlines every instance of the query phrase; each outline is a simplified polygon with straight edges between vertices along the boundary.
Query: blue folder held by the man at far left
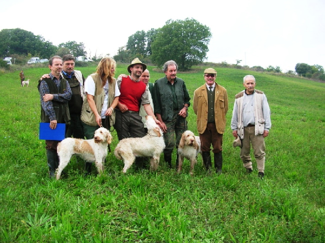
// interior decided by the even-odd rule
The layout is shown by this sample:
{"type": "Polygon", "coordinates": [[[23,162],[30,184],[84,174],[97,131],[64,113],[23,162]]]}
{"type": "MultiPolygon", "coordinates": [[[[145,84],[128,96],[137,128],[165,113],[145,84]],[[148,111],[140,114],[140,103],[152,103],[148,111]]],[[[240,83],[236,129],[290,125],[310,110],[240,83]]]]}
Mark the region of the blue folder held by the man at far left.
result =
{"type": "Polygon", "coordinates": [[[39,123],[39,139],[40,140],[58,140],[65,138],[65,123],[57,123],[55,129],[49,127],[49,123],[39,123]]]}

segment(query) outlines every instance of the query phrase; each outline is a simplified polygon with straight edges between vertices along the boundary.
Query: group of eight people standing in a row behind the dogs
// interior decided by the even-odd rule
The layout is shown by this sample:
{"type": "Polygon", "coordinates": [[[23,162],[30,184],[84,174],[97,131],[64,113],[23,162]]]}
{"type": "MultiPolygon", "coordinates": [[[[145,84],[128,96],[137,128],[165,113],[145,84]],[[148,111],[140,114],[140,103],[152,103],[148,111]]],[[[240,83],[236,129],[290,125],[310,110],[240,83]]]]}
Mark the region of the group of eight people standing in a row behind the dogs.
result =
{"type": "MultiPolygon", "coordinates": [[[[49,59],[50,73],[42,75],[38,82],[41,103],[41,121],[48,122],[51,129],[57,123],[66,123],[65,137],[91,139],[100,126],[114,127],[118,140],[127,137],[143,137],[146,128],[143,117],[154,117],[160,126],[165,142],[164,161],[171,168],[171,154],[178,147],[181,134],[187,130],[186,117],[190,97],[183,79],[176,76],[177,63],[166,61],[164,77],[154,84],[149,81],[149,71],[138,58],[128,65],[129,75],[121,74],[115,79],[116,62],[111,57],[99,61],[96,71],[84,79],[74,69],[74,57],[70,54],[49,59]]],[[[222,136],[226,126],[228,96],[216,79],[217,72],[206,68],[205,83],[195,89],[193,110],[201,142],[202,160],[210,171],[211,154],[217,173],[222,172],[222,136]],[[212,147],[212,149],[211,149],[212,147]]],[[[255,89],[255,78],[243,78],[245,89],[235,95],[231,129],[239,140],[240,158],[248,173],[252,172],[250,144],[257,163],[258,176],[264,176],[265,143],[271,127],[270,110],[265,94],[255,89]]],[[[45,140],[47,165],[50,177],[58,166],[56,147],[59,141],[45,140]]],[[[140,144],[139,144],[140,146],[140,144]]],[[[178,165],[178,155],[176,157],[178,165]]],[[[143,158],[137,157],[137,168],[143,167],[143,158]]],[[[91,163],[85,164],[86,173],[91,163]]]]}

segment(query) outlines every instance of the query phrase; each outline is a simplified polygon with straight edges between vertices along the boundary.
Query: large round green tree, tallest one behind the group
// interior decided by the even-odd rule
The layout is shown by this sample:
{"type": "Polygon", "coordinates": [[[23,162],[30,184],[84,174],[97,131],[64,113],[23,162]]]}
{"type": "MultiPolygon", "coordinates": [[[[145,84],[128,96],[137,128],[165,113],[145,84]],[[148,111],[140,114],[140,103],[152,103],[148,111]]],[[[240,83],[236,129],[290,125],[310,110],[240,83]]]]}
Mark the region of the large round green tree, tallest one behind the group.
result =
{"type": "Polygon", "coordinates": [[[210,28],[193,18],[169,19],[157,30],[151,44],[151,60],[161,66],[172,59],[179,70],[189,69],[206,58],[210,38],[210,28]]]}

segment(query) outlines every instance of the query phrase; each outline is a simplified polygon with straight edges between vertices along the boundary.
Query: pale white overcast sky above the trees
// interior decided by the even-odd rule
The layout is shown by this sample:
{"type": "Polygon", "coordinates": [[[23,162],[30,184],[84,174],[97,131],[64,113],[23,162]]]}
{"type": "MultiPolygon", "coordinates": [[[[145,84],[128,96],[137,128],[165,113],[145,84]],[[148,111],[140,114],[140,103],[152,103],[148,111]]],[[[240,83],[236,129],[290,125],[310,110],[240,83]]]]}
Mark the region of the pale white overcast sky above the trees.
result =
{"type": "Polygon", "coordinates": [[[283,72],[298,62],[325,66],[325,0],[0,1],[0,30],[22,28],[54,45],[83,42],[88,56],[113,56],[136,31],[189,17],[210,28],[207,61],[283,72]]]}

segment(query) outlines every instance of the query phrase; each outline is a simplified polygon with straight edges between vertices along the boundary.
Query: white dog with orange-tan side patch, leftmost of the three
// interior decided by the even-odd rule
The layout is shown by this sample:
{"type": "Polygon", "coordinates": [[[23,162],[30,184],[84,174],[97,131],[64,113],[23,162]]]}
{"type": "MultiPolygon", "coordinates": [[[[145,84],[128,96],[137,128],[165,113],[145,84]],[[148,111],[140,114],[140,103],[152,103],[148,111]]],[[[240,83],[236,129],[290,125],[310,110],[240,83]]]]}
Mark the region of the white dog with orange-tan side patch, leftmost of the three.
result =
{"type": "Polygon", "coordinates": [[[56,179],[60,178],[62,170],[69,163],[73,154],[78,155],[87,162],[94,162],[98,173],[101,173],[104,168],[107,147],[111,143],[111,140],[112,136],[110,132],[104,127],[95,130],[92,139],[84,140],[72,137],[63,139],[57,145],[59,164],[56,170],[56,179]]]}

